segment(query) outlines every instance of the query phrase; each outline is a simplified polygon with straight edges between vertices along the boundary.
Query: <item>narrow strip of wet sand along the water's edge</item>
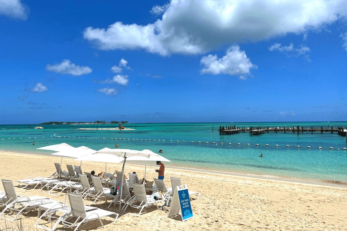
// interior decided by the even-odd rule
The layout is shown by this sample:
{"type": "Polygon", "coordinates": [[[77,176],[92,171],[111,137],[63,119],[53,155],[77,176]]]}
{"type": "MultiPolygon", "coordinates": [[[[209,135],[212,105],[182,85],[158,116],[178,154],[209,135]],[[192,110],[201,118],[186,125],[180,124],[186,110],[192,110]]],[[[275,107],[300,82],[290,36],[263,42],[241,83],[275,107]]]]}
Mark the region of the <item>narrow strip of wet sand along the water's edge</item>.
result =
{"type": "MultiPolygon", "coordinates": [[[[15,152],[15,151],[5,151],[0,150],[0,154],[28,154],[33,156],[51,156],[50,154],[45,153],[25,153],[25,152],[15,152]]],[[[63,158],[69,158],[74,159],[70,157],[63,157],[63,158]]],[[[93,161],[86,161],[86,162],[93,162],[93,161]]],[[[133,162],[129,161],[127,162],[130,165],[135,166],[145,166],[143,163],[133,162]]],[[[156,165],[150,165],[147,164],[147,167],[156,167],[156,165]]],[[[277,182],[286,182],[286,183],[293,183],[293,184],[301,184],[301,185],[311,185],[311,186],[325,186],[325,187],[335,187],[335,188],[347,188],[347,182],[343,181],[329,181],[327,180],[312,180],[312,179],[297,179],[297,178],[286,178],[286,177],[279,177],[279,176],[270,176],[270,175],[256,175],[256,174],[247,174],[247,173],[238,173],[238,172],[227,172],[227,171],[214,171],[214,170],[207,170],[207,169],[198,169],[198,168],[191,168],[191,167],[184,167],[184,166],[165,166],[166,169],[176,169],[176,170],[185,170],[185,171],[192,171],[192,172],[203,172],[203,173],[209,173],[209,174],[218,174],[218,175],[224,175],[224,176],[234,176],[234,177],[241,177],[246,179],[260,179],[265,181],[277,181],[277,182]],[[328,181],[328,182],[327,182],[328,181]]]]}

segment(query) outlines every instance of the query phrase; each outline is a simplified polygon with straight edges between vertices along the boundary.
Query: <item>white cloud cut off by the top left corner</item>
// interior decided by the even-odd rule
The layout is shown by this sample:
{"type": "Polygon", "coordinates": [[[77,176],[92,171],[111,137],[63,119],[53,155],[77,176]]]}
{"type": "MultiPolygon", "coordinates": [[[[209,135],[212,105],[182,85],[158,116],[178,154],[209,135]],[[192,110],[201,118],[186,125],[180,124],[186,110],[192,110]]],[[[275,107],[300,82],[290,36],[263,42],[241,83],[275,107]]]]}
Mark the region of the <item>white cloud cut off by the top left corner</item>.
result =
{"type": "Polygon", "coordinates": [[[0,0],[0,15],[26,20],[27,12],[28,7],[20,0],[0,0]]]}

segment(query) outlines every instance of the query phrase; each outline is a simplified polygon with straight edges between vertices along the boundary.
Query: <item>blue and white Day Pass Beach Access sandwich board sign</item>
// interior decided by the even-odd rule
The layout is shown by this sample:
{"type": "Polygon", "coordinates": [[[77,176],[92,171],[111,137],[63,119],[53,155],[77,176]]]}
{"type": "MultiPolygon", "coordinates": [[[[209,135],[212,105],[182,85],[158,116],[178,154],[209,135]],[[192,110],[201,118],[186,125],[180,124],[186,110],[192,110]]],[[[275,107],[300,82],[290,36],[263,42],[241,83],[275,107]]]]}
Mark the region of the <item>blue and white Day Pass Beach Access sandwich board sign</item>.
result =
{"type": "Polygon", "coordinates": [[[182,221],[193,218],[193,210],[187,185],[176,186],[174,190],[168,217],[180,214],[182,221]]]}

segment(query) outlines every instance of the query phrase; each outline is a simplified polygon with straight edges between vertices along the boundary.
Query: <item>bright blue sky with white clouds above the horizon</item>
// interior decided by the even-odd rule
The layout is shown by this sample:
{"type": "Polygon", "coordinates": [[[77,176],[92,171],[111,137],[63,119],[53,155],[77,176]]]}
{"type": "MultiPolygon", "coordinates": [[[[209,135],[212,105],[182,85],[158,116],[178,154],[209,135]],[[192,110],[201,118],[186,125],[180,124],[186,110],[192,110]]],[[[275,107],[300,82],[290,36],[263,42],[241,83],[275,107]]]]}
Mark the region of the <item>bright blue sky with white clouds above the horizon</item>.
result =
{"type": "Polygon", "coordinates": [[[343,0],[0,0],[1,124],[346,121],[346,66],[343,0]]]}

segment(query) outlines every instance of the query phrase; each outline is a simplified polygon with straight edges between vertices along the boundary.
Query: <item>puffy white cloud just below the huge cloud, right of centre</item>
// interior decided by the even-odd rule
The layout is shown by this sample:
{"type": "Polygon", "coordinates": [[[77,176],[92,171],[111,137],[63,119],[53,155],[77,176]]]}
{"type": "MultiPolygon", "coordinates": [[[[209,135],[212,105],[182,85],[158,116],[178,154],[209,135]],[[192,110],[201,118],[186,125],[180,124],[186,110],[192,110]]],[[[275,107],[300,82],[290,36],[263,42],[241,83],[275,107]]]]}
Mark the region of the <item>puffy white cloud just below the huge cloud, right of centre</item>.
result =
{"type": "Polygon", "coordinates": [[[200,60],[200,64],[204,65],[200,71],[201,74],[240,75],[239,78],[242,80],[246,79],[245,75],[251,74],[251,69],[257,68],[238,45],[229,47],[226,55],[220,59],[217,55],[204,56],[200,60]]]}

